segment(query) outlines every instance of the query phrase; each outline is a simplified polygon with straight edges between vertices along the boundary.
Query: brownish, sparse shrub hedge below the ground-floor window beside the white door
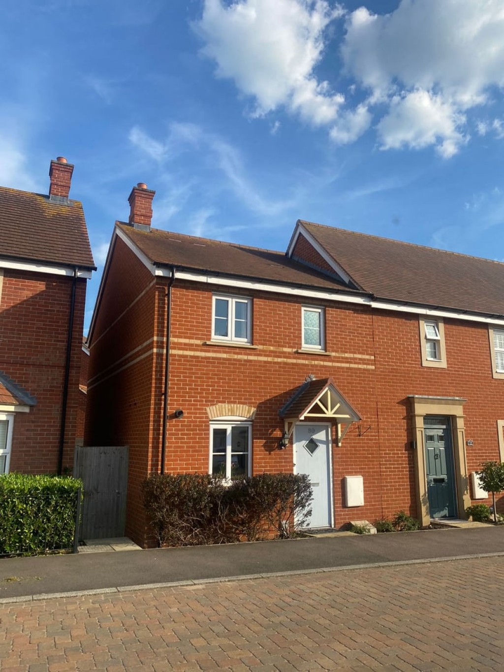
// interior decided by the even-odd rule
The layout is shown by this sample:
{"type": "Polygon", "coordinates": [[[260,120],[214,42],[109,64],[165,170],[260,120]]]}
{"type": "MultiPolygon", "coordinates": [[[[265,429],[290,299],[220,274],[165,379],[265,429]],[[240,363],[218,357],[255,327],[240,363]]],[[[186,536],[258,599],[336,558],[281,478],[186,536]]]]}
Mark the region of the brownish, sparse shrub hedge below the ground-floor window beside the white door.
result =
{"type": "Polygon", "coordinates": [[[311,515],[308,476],[259,474],[228,487],[208,474],[151,474],[144,506],[159,546],[223,544],[294,534],[311,515]]]}

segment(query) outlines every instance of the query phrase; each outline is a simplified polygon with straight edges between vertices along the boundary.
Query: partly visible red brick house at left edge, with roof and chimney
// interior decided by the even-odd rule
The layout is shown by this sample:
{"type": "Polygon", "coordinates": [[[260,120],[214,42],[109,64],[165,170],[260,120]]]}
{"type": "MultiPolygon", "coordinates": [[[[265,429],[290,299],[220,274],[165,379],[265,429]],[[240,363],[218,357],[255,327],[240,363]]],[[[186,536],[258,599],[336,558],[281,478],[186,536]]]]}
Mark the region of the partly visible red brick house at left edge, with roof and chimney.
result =
{"type": "Polygon", "coordinates": [[[0,187],[0,474],[73,466],[95,266],[82,205],[69,199],[72,173],[58,157],[48,196],[0,187]]]}

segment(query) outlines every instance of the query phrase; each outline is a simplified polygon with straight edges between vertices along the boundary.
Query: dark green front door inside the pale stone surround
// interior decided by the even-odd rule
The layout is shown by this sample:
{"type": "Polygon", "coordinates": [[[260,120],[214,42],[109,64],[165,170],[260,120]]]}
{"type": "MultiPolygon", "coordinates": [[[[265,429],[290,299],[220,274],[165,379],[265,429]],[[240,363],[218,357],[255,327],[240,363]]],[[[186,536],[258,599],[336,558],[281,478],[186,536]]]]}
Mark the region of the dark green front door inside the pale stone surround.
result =
{"type": "Polygon", "coordinates": [[[456,517],[456,493],[450,419],[423,419],[425,470],[431,518],[456,517]]]}

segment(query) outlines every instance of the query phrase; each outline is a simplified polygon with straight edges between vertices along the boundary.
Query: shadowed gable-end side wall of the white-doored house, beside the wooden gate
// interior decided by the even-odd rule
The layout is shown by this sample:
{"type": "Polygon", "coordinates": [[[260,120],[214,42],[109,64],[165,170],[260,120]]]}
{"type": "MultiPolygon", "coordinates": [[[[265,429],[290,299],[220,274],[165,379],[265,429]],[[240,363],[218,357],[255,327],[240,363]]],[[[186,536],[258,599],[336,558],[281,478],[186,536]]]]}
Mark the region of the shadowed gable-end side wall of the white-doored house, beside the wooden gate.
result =
{"type": "Polygon", "coordinates": [[[165,294],[116,239],[90,345],[85,444],[129,446],[126,534],[140,542],[141,483],[158,469],[165,294]]]}

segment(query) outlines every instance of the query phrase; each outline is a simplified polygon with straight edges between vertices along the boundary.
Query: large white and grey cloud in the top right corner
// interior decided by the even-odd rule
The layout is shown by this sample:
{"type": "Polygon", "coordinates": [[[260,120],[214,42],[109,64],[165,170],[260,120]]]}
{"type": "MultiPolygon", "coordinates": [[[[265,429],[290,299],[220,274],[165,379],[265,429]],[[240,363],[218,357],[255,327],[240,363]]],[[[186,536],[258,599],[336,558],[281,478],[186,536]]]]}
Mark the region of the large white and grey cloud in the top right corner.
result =
{"type": "MultiPolygon", "coordinates": [[[[390,14],[353,11],[341,52],[368,101],[386,106],[382,149],[435,145],[454,155],[468,139],[464,112],[504,87],[503,35],[502,0],[402,0],[390,14]]],[[[480,122],[476,130],[488,128],[480,122]]]]}

